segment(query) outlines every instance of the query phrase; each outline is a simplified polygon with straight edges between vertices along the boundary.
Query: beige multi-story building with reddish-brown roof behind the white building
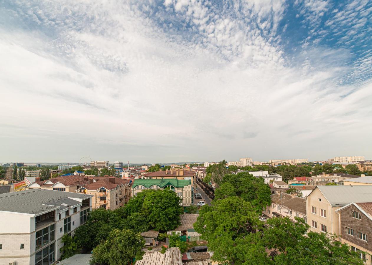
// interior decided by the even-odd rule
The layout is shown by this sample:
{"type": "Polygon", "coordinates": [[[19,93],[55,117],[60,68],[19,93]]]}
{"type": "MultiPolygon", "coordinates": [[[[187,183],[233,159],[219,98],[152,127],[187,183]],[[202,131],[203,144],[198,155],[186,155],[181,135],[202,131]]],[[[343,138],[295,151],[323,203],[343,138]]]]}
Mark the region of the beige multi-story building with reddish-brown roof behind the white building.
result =
{"type": "Polygon", "coordinates": [[[47,189],[93,195],[92,207],[118,209],[131,197],[132,180],[116,177],[60,176],[49,180],[36,179],[26,186],[27,190],[47,189]]]}

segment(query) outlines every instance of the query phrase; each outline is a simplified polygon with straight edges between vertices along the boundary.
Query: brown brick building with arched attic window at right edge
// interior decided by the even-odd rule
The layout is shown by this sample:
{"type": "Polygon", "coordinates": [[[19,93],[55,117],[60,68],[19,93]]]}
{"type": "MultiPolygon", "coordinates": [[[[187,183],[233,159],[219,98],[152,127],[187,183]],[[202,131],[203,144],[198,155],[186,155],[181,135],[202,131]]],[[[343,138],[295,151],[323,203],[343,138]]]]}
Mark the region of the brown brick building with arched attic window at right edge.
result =
{"type": "Polygon", "coordinates": [[[336,210],[339,214],[341,242],[347,243],[352,251],[364,251],[360,258],[371,264],[372,254],[372,202],[349,203],[336,210]]]}

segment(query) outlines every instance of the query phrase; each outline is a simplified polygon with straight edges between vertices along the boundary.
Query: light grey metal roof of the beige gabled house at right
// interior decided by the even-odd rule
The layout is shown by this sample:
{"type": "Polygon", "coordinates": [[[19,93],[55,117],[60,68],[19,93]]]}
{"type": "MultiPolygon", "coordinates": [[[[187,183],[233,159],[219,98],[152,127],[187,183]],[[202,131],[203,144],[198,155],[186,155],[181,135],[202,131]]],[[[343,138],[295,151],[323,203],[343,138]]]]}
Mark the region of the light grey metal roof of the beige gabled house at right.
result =
{"type": "MultiPolygon", "coordinates": [[[[317,188],[328,202],[334,206],[344,206],[353,202],[368,203],[372,201],[372,186],[369,185],[318,185],[317,188]]],[[[311,193],[313,193],[314,190],[311,193]]]]}

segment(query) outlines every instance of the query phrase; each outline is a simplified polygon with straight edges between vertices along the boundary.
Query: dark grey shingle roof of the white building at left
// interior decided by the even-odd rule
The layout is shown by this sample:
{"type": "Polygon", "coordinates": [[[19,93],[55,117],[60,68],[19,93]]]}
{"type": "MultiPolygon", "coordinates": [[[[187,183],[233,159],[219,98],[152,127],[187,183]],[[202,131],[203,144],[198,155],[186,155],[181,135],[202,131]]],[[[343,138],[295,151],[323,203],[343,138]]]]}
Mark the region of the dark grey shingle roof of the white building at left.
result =
{"type": "Polygon", "coordinates": [[[0,194],[0,211],[16,213],[41,214],[52,209],[66,209],[68,206],[79,204],[71,198],[84,199],[93,195],[65,191],[32,189],[0,194]]]}

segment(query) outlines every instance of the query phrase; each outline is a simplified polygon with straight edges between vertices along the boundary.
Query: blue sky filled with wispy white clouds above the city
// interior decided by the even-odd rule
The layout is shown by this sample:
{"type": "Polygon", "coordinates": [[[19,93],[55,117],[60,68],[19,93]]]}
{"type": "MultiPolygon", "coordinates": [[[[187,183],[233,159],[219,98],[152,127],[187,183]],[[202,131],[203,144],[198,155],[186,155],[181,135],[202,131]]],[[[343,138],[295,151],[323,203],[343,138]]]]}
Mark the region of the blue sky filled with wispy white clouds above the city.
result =
{"type": "Polygon", "coordinates": [[[4,0],[0,162],[372,159],[372,2],[4,0]]]}

